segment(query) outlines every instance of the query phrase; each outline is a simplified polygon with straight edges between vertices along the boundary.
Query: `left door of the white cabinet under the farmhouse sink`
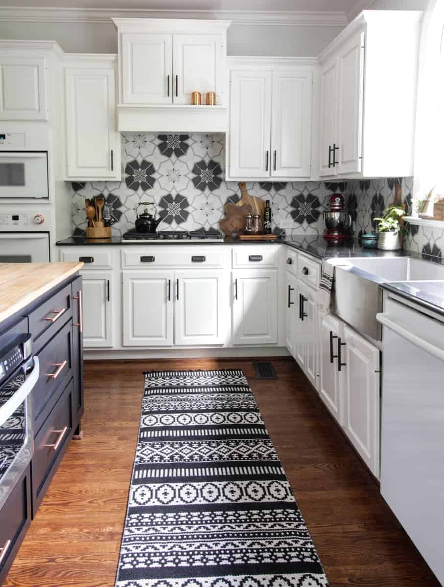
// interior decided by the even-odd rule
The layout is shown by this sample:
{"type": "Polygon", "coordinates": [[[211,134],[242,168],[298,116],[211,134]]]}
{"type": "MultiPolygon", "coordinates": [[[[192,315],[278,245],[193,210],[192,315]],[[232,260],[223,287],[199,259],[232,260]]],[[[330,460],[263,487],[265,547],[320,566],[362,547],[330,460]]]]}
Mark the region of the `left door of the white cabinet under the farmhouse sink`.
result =
{"type": "Polygon", "coordinates": [[[331,315],[325,316],[321,322],[321,390],[322,401],[331,411],[335,419],[344,425],[343,402],[339,387],[337,348],[339,342],[340,323],[331,315]]]}

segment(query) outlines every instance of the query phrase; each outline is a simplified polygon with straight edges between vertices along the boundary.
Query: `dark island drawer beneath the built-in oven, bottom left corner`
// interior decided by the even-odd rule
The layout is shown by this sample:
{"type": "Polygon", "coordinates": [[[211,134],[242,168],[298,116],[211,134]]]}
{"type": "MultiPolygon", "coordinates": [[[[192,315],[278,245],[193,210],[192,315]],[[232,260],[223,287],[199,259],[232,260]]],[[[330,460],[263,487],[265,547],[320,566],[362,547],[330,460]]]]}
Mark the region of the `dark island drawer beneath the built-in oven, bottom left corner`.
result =
{"type": "Polygon", "coordinates": [[[0,510],[0,548],[6,549],[6,551],[0,551],[0,556],[5,552],[0,563],[0,585],[6,578],[6,573],[14,561],[29,524],[31,524],[31,477],[28,466],[0,510]]]}

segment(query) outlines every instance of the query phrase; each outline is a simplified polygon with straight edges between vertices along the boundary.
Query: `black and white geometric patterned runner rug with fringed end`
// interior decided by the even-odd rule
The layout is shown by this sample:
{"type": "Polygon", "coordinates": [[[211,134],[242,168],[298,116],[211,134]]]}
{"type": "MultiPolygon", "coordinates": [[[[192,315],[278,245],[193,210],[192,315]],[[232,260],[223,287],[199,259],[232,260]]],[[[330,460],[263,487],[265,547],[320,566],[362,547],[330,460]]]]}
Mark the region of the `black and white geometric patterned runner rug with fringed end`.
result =
{"type": "Polygon", "coordinates": [[[147,373],[116,587],[319,586],[243,372],[147,373]]]}

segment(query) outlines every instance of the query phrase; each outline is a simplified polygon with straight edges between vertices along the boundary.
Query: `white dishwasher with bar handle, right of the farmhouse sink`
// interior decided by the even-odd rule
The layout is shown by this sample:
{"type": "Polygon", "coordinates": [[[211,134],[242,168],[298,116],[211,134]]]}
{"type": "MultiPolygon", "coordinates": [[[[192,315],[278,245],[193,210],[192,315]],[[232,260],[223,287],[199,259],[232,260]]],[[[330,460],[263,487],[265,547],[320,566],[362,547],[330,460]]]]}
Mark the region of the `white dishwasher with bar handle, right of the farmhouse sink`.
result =
{"type": "Polygon", "coordinates": [[[384,293],[381,494],[444,583],[444,316],[384,293]]]}

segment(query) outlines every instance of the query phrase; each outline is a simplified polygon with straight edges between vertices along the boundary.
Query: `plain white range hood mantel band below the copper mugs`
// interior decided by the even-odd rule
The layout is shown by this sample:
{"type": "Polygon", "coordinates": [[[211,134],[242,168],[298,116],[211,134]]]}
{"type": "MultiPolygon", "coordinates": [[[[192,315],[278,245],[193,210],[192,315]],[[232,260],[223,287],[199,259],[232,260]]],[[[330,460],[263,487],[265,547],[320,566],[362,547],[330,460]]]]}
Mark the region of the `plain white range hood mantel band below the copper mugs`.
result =
{"type": "Polygon", "coordinates": [[[227,125],[226,106],[117,106],[117,128],[120,132],[225,133],[227,125]]]}

